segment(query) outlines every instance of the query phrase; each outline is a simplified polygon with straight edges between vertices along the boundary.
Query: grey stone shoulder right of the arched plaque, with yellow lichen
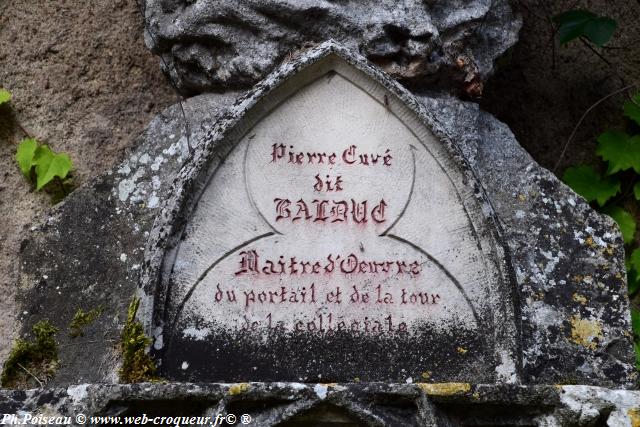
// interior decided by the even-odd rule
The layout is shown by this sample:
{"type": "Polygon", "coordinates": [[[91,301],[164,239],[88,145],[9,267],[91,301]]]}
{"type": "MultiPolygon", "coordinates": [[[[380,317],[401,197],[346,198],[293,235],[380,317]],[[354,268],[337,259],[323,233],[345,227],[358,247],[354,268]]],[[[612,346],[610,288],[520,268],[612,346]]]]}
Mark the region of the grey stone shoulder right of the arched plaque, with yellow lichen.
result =
{"type": "Polygon", "coordinates": [[[520,294],[525,382],[635,384],[624,245],[613,220],[476,105],[422,101],[458,141],[502,225],[520,294]]]}

